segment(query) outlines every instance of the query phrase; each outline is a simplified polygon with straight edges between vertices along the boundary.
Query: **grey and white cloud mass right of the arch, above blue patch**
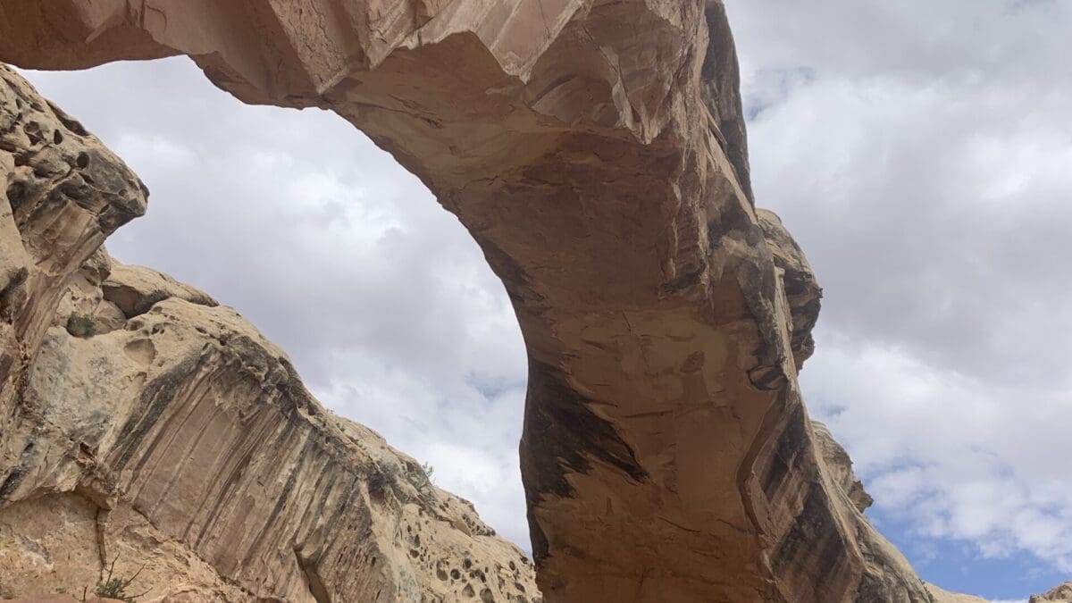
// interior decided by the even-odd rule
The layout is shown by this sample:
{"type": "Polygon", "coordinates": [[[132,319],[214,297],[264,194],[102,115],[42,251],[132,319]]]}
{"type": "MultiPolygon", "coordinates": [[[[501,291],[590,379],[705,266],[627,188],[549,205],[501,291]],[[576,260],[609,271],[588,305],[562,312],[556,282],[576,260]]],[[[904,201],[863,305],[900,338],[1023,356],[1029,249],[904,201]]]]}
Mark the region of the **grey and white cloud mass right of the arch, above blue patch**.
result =
{"type": "Polygon", "coordinates": [[[1072,572],[1072,5],[730,9],[757,201],[825,289],[813,412],[914,538],[1072,572]]]}

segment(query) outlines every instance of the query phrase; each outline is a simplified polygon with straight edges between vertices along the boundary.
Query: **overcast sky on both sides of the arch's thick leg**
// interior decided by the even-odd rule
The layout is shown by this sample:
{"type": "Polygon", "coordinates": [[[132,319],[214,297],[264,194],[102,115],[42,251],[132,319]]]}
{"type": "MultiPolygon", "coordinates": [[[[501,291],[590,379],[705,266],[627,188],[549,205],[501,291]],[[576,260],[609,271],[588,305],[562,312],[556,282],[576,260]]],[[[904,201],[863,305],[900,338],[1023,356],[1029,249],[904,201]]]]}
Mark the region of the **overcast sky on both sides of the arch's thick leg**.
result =
{"type": "MultiPolygon", "coordinates": [[[[1072,2],[729,0],[760,205],[825,288],[802,382],[921,575],[1072,578],[1072,2]]],[[[235,306],[527,546],[520,333],[458,221],[323,112],[187,59],[29,73],[138,172],[108,242],[235,306]]]]}

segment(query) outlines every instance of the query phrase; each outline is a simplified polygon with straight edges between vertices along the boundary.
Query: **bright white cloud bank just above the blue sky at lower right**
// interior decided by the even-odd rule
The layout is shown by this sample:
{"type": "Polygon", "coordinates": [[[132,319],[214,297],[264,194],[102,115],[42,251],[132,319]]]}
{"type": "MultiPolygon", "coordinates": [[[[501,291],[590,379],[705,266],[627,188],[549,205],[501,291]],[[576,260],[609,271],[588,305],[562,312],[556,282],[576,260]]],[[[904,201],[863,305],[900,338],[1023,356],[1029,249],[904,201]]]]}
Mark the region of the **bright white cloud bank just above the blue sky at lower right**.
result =
{"type": "Polygon", "coordinates": [[[973,542],[985,557],[1027,550],[1072,572],[1069,400],[1025,399],[837,339],[820,332],[804,389],[852,451],[878,510],[921,535],[973,542]]]}

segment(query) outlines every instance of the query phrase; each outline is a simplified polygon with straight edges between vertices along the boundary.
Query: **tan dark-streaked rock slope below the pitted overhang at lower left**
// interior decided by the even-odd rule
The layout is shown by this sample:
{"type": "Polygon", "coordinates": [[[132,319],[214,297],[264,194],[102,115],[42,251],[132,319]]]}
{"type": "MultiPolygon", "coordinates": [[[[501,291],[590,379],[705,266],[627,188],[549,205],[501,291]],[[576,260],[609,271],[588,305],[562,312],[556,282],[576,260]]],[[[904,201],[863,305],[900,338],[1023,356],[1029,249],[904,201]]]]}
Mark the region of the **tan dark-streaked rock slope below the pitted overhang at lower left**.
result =
{"type": "Polygon", "coordinates": [[[24,592],[118,559],[150,603],[539,601],[519,548],[321,408],[229,308],[172,297],[122,330],[54,327],[23,403],[35,445],[0,534],[24,592]]]}

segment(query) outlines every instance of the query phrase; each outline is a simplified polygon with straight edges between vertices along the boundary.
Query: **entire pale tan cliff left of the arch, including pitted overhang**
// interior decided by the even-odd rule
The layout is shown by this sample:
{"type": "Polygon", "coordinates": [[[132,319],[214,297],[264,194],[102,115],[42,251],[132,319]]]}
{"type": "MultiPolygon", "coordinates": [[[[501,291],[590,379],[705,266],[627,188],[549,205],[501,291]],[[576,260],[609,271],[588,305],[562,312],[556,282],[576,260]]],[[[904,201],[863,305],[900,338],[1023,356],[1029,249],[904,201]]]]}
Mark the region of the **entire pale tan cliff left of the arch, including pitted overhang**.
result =
{"type": "Polygon", "coordinates": [[[230,308],[100,247],[138,179],[0,68],[0,597],[535,602],[532,562],[230,308]]]}

